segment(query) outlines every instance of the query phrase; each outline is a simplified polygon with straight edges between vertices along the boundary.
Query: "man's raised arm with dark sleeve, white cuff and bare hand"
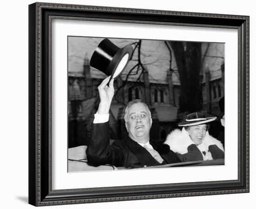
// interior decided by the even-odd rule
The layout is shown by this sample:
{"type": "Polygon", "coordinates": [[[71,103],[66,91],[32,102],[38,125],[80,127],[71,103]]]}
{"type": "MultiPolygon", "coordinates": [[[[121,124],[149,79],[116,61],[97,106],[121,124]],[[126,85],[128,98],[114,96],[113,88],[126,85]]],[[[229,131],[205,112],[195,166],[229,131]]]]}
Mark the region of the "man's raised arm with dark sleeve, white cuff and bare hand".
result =
{"type": "Polygon", "coordinates": [[[99,166],[104,164],[121,165],[123,150],[119,147],[111,147],[109,144],[109,109],[114,97],[114,79],[102,81],[98,86],[100,104],[94,117],[94,122],[89,134],[88,148],[86,150],[88,163],[99,166]]]}

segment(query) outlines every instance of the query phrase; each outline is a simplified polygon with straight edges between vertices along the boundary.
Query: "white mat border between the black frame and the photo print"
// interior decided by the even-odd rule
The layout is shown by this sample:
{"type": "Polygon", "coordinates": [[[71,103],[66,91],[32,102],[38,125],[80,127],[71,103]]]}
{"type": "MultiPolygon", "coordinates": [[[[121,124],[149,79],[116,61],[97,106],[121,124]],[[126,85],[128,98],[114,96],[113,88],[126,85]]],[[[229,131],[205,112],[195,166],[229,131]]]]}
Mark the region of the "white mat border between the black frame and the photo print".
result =
{"type": "Polygon", "coordinates": [[[237,179],[237,32],[236,29],[194,26],[163,26],[98,21],[53,20],[52,189],[77,189],[237,179]],[[226,106],[225,165],[67,173],[67,36],[224,42],[226,106]]]}

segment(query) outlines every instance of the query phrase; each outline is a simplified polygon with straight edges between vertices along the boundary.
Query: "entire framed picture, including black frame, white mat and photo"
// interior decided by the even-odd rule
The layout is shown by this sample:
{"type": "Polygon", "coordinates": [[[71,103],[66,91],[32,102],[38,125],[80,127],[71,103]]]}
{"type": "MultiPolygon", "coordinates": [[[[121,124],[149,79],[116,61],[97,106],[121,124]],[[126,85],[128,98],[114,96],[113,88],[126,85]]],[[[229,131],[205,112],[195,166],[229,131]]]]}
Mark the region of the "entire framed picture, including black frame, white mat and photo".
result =
{"type": "Polygon", "coordinates": [[[249,192],[249,16],[28,8],[30,204],[249,192]]]}

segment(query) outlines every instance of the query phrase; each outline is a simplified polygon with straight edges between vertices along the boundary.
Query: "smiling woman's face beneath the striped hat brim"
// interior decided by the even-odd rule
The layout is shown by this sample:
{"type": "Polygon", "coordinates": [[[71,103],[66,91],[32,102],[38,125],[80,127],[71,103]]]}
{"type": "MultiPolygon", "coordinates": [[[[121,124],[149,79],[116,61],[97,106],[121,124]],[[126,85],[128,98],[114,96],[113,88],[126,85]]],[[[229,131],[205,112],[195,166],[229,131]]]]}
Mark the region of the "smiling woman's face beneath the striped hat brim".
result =
{"type": "Polygon", "coordinates": [[[193,126],[190,126],[189,130],[187,130],[189,137],[196,145],[199,145],[202,143],[202,141],[205,138],[206,131],[207,131],[206,124],[193,125],[193,126]]]}

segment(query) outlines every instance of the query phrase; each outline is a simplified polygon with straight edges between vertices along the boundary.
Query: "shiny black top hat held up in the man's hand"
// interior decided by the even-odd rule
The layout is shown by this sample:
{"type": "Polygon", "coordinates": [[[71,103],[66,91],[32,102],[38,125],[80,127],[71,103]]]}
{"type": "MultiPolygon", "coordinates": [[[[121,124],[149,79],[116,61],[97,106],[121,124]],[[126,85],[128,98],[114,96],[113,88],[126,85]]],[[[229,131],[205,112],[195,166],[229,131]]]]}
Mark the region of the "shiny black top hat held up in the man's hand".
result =
{"type": "Polygon", "coordinates": [[[109,39],[103,39],[94,51],[90,65],[107,76],[116,78],[125,69],[133,52],[133,47],[127,45],[124,48],[119,48],[109,39]]]}

